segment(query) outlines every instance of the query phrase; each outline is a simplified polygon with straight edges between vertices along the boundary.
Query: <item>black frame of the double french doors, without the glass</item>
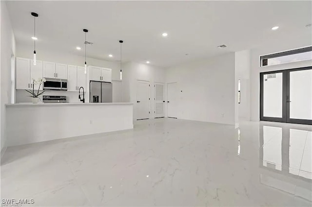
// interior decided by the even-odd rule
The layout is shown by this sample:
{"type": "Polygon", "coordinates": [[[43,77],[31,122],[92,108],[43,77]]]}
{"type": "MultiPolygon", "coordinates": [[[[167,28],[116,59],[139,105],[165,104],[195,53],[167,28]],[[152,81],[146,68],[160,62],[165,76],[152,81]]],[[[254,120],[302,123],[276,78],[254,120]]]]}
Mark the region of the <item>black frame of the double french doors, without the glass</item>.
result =
{"type": "Polygon", "coordinates": [[[273,70],[268,72],[260,72],[260,121],[275,121],[275,122],[287,122],[287,123],[299,123],[299,124],[310,124],[312,120],[302,119],[290,119],[290,72],[298,70],[312,69],[312,67],[303,67],[295,69],[284,69],[284,70],[273,70]],[[263,116],[263,75],[272,73],[283,74],[283,91],[282,91],[282,118],[277,117],[264,117],[263,116]]]}

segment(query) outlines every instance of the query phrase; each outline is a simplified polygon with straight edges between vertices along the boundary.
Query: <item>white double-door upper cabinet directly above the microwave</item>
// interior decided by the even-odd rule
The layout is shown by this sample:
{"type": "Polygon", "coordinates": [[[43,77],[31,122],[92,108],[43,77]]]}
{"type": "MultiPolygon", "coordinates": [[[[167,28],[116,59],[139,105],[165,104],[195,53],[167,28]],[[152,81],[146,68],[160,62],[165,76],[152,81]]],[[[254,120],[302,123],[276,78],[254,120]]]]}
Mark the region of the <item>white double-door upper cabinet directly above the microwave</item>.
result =
{"type": "Polygon", "coordinates": [[[43,62],[44,78],[67,79],[67,65],[52,62],[43,62]]]}

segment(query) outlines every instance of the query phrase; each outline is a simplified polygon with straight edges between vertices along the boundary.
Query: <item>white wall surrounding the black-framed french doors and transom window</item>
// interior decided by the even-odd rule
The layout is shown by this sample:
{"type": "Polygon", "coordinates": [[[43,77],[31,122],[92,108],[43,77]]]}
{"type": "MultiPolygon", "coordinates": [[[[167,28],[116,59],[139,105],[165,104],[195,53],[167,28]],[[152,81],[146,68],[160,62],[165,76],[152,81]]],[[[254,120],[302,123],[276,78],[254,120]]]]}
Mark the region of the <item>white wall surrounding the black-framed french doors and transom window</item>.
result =
{"type": "Polygon", "coordinates": [[[263,46],[251,50],[251,68],[250,68],[250,108],[251,108],[251,121],[260,120],[260,72],[293,69],[312,66],[312,61],[301,61],[286,63],[274,66],[260,67],[259,57],[265,54],[272,54],[276,52],[293,50],[296,48],[306,47],[312,45],[312,39],[292,39],[287,43],[276,42],[274,45],[263,46]]]}

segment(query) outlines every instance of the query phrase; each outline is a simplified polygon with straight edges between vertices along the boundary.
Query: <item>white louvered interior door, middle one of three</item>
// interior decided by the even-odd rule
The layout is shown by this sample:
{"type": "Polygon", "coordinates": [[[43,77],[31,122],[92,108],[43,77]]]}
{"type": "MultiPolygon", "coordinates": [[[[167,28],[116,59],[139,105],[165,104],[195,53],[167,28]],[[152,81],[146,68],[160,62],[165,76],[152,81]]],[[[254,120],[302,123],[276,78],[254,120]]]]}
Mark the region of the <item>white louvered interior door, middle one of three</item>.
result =
{"type": "Polygon", "coordinates": [[[164,84],[155,83],[155,118],[165,117],[164,84]]]}

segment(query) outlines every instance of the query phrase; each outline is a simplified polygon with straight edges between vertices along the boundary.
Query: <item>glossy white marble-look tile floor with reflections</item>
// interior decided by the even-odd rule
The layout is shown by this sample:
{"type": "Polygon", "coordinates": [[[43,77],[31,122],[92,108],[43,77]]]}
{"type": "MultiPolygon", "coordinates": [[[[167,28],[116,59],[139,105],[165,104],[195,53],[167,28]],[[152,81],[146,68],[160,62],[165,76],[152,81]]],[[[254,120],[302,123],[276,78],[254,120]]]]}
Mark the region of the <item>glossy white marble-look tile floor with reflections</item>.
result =
{"type": "Polygon", "coordinates": [[[133,130],[8,148],[1,198],[35,206],[311,206],[311,141],[308,125],[137,121],[133,130]]]}

